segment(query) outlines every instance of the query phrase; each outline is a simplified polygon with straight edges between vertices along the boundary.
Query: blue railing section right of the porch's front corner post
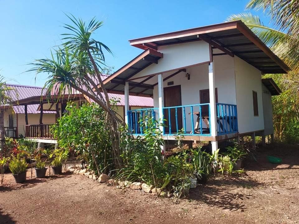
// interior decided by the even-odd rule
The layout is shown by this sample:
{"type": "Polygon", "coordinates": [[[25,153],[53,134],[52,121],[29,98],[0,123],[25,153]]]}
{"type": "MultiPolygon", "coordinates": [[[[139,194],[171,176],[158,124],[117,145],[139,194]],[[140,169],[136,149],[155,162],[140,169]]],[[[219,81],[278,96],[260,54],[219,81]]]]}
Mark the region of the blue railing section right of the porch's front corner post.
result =
{"type": "Polygon", "coordinates": [[[216,103],[218,135],[238,131],[237,105],[216,103]]]}

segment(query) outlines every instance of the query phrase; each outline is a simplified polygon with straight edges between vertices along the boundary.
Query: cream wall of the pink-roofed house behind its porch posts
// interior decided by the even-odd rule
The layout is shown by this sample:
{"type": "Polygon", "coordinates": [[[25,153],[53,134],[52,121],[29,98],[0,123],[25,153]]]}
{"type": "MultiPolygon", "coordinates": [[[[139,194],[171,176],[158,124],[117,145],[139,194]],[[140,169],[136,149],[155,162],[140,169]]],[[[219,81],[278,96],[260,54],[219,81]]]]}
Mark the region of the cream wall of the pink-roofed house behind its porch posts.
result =
{"type": "MultiPolygon", "coordinates": [[[[55,124],[56,114],[43,114],[43,124],[55,124]]],[[[28,114],[28,124],[40,124],[40,114],[28,114]]],[[[18,114],[18,135],[25,137],[25,114],[18,114]]]]}

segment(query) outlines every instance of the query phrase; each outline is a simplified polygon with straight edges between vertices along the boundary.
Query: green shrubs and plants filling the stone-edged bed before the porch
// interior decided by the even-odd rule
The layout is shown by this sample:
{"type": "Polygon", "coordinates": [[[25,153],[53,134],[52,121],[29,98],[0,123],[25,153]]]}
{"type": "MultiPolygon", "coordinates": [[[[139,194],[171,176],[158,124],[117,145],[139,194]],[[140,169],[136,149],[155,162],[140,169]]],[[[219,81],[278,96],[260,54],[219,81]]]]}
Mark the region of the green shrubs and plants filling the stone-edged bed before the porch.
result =
{"type": "MultiPolygon", "coordinates": [[[[120,149],[123,164],[116,169],[112,156],[112,139],[105,129],[105,112],[96,104],[77,108],[70,103],[65,114],[52,129],[59,147],[69,149],[83,159],[96,175],[105,173],[117,180],[146,183],[180,197],[189,189],[192,180],[205,183],[213,175],[213,162],[218,156],[199,148],[180,150],[166,157],[161,152],[164,143],[158,121],[146,117],[141,124],[144,136],[134,138],[127,127],[120,127],[120,149]]],[[[178,147],[182,147],[178,140],[178,147]]],[[[234,166],[234,159],[228,161],[234,166]]],[[[228,170],[221,170],[228,172],[228,170]]],[[[233,170],[230,170],[230,174],[233,170]]]]}

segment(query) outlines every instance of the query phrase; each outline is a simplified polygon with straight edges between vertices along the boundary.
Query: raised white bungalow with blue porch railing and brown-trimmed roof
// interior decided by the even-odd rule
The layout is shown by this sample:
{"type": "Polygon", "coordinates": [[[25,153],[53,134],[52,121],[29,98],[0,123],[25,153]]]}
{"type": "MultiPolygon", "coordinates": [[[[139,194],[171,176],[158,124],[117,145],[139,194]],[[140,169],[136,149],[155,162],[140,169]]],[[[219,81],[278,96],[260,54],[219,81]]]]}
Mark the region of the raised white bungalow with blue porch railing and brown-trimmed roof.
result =
{"type": "Polygon", "coordinates": [[[290,69],[241,21],[130,40],[144,51],[104,80],[125,94],[126,122],[142,135],[140,118],[166,119],[164,139],[183,128],[185,140],[218,141],[272,135],[271,96],[280,90],[264,73],[290,69]],[[150,96],[153,109],[129,110],[128,96],[150,96]]]}

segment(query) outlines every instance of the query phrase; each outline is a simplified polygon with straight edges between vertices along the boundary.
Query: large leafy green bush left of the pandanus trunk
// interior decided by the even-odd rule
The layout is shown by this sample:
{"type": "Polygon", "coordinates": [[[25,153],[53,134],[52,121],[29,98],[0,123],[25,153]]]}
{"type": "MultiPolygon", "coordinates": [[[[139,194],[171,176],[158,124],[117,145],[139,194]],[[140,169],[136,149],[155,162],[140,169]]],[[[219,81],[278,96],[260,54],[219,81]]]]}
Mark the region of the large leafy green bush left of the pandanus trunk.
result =
{"type": "Polygon", "coordinates": [[[68,103],[69,114],[61,117],[52,132],[62,149],[74,150],[84,158],[91,170],[106,173],[114,170],[112,137],[105,125],[105,111],[96,104],[84,104],[77,108],[68,103]]]}

